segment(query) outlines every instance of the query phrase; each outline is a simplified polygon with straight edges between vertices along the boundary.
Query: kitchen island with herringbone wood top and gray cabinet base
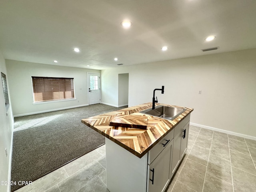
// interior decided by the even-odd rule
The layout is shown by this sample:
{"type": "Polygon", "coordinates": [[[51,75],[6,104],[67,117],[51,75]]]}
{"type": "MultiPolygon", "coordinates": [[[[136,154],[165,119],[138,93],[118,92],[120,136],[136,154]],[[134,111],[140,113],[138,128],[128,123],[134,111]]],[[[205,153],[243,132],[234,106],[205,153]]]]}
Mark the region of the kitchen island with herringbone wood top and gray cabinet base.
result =
{"type": "Polygon", "coordinates": [[[172,120],[141,113],[141,104],[82,119],[106,137],[107,188],[110,192],[166,190],[186,152],[191,108],[172,120]],[[110,125],[111,124],[111,125],[110,125]]]}

